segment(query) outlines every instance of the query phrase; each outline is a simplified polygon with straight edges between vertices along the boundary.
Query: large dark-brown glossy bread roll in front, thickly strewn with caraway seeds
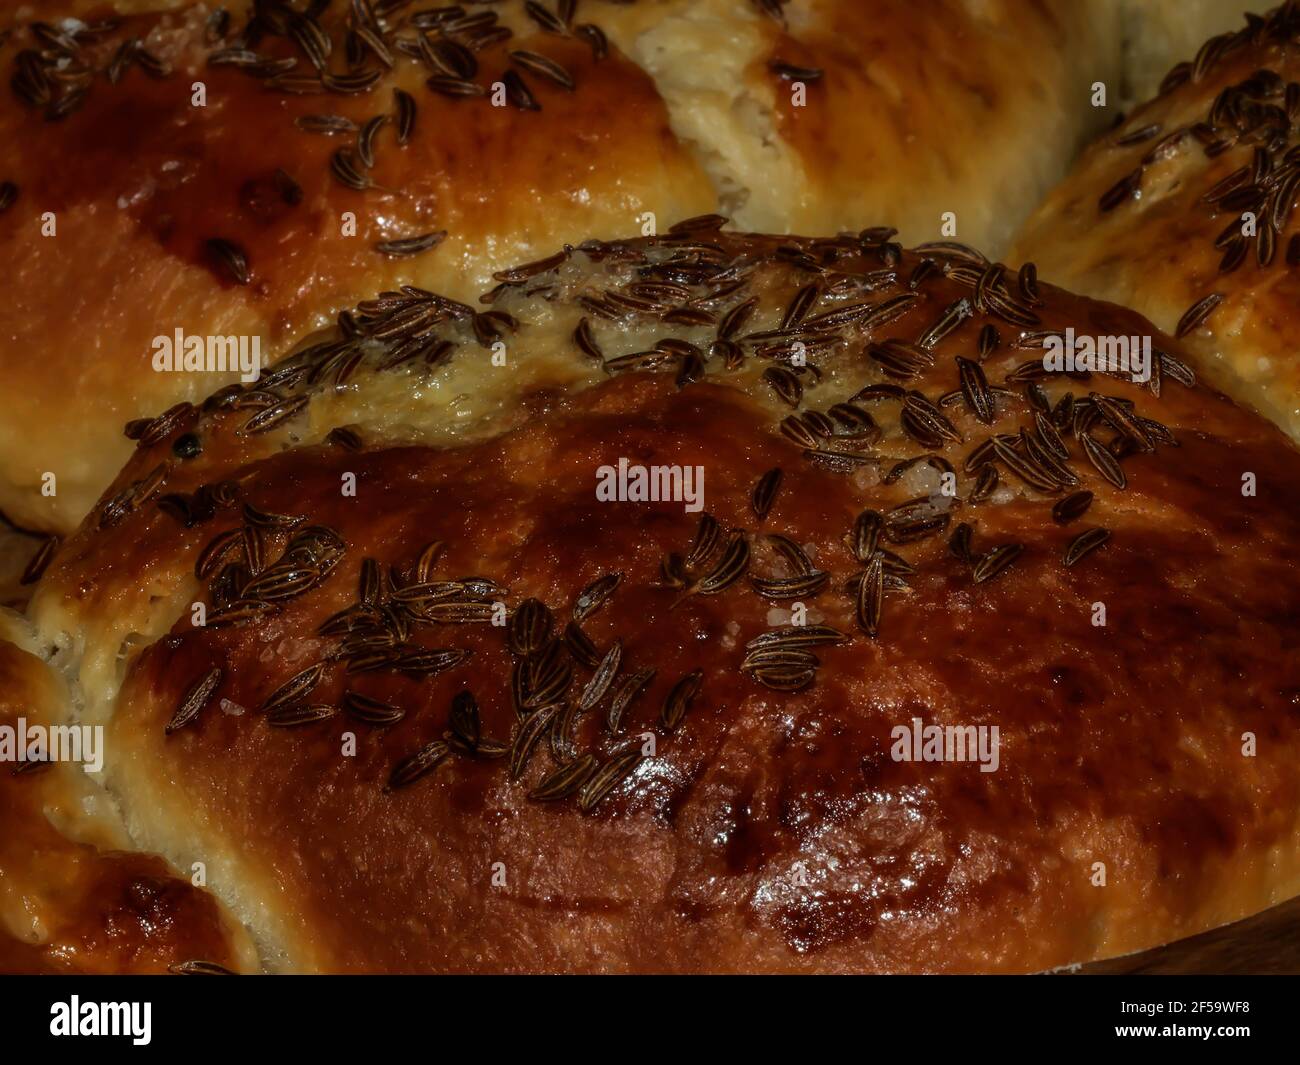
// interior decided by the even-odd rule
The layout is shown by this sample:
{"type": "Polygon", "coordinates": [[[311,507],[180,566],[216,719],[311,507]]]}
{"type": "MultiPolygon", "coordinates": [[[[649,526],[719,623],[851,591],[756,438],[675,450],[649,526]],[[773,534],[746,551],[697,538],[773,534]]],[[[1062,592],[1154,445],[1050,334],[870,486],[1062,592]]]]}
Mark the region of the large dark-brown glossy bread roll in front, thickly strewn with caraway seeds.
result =
{"type": "Polygon", "coordinates": [[[135,845],[278,971],[1034,971],[1297,893],[1300,454],[1032,270],[718,222],[148,427],[31,603],[135,845]]]}

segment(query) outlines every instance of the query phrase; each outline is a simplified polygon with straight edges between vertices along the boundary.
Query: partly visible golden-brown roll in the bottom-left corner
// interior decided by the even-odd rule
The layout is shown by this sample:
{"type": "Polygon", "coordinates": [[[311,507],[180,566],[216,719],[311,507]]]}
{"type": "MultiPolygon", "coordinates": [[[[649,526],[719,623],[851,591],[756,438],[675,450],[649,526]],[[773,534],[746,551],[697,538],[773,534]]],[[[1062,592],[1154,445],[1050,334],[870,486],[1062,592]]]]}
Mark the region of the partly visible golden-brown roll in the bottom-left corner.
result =
{"type": "MultiPolygon", "coordinates": [[[[68,689],[42,651],[21,618],[0,611],[0,746],[72,724],[68,689]]],[[[82,753],[91,763],[103,749],[82,753]]],[[[212,895],[161,858],[131,853],[109,797],[81,765],[10,759],[6,750],[0,973],[162,973],[178,960],[211,958],[222,969],[256,962],[248,935],[212,895]]]]}

